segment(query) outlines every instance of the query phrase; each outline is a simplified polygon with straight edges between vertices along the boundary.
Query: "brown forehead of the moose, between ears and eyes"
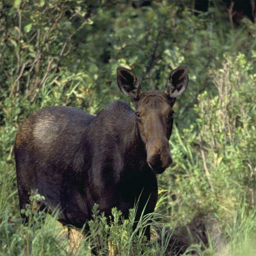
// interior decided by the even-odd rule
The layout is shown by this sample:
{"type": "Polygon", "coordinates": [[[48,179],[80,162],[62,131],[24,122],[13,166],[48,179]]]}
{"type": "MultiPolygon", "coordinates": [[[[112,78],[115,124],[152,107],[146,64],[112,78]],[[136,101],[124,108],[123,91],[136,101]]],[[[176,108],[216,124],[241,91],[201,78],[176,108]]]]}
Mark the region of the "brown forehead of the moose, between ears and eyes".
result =
{"type": "Polygon", "coordinates": [[[137,103],[137,111],[142,113],[149,109],[150,111],[158,110],[161,112],[169,112],[172,107],[166,93],[160,91],[142,93],[137,103]]]}

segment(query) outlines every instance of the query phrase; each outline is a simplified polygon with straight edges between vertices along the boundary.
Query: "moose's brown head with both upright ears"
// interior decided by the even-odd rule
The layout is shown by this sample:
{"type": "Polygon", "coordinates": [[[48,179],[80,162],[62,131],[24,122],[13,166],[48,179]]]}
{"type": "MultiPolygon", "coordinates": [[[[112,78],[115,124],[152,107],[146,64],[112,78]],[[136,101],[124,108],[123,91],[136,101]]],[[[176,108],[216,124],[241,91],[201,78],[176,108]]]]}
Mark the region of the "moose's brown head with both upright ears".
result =
{"type": "Polygon", "coordinates": [[[164,91],[143,92],[137,76],[124,67],[117,68],[117,84],[123,94],[132,99],[136,109],[137,127],[147,153],[148,166],[162,173],[172,163],[169,138],[172,134],[172,107],[175,99],[189,82],[188,67],[173,70],[166,81],[164,91]]]}

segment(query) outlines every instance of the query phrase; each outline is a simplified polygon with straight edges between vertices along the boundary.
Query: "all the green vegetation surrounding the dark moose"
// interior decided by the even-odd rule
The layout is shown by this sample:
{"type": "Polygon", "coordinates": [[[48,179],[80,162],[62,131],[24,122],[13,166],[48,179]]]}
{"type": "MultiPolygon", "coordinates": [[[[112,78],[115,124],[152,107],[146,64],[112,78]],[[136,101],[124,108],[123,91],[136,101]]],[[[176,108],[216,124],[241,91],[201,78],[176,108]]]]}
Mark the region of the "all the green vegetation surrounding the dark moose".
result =
{"type": "Polygon", "coordinates": [[[221,1],[209,1],[207,12],[195,11],[195,1],[142,2],[1,1],[1,255],[90,255],[93,247],[106,255],[109,244],[119,255],[170,255],[179,232],[189,240],[185,254],[255,255],[255,23],[233,24],[221,1]],[[46,106],[96,114],[128,101],[116,84],[119,65],[134,70],[143,90],[161,90],[182,64],[189,86],[175,104],[174,164],[158,175],[156,214],[146,217],[156,239],[136,237],[134,212],[120,223],[116,209],[107,226],[95,208],[91,234],[73,250],[49,215],[43,221],[26,209],[24,227],[13,156],[22,120],[46,106]]]}

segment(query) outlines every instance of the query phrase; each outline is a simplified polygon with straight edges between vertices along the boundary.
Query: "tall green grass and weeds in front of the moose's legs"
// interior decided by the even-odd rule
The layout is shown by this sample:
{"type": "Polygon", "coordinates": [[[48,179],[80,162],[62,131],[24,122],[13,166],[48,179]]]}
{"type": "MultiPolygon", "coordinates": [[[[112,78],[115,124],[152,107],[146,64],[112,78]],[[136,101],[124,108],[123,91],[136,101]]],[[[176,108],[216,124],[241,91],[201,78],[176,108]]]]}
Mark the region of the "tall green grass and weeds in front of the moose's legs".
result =
{"type": "Polygon", "coordinates": [[[29,221],[26,226],[21,219],[10,219],[8,207],[1,211],[1,255],[160,255],[166,253],[170,234],[162,230],[162,242],[149,242],[144,236],[148,221],[155,226],[157,214],[148,214],[137,221],[134,230],[136,208],[131,209],[129,218],[122,219],[122,212],[112,209],[112,219],[108,224],[104,213],[93,207],[93,219],[88,222],[90,232],[80,231],[79,244],[70,244],[68,228],[58,223],[58,211],[48,215],[26,209],[29,221]],[[112,254],[111,254],[112,253],[112,254]]]}

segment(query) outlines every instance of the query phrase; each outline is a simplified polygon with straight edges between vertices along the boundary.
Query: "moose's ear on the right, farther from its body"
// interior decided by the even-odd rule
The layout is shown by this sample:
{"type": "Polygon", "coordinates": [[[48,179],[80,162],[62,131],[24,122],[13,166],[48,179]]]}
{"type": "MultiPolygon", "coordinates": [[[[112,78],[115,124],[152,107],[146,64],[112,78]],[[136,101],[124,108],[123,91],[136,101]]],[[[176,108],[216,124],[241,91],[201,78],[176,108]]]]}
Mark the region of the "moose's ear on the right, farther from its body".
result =
{"type": "Polygon", "coordinates": [[[186,89],[189,83],[189,67],[181,66],[172,70],[166,81],[165,93],[174,99],[186,89]]]}

